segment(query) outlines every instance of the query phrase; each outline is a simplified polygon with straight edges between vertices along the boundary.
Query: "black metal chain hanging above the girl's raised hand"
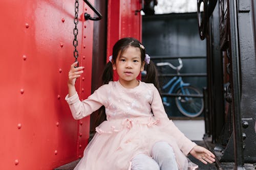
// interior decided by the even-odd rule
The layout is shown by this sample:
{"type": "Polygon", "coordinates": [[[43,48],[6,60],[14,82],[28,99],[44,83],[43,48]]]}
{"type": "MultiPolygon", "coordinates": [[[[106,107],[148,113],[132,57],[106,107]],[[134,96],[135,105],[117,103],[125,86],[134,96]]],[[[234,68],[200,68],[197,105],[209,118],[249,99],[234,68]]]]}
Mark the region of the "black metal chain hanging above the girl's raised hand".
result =
{"type": "MultiPolygon", "coordinates": [[[[75,50],[74,50],[75,62],[77,61],[77,57],[78,57],[78,51],[76,49],[76,47],[78,45],[78,41],[77,41],[77,35],[78,35],[78,29],[77,29],[77,24],[78,24],[78,7],[79,7],[79,3],[78,3],[78,0],[76,0],[76,2],[75,2],[75,17],[74,17],[75,28],[73,30],[73,34],[74,34],[73,45],[75,47],[75,50]]],[[[77,62],[77,66],[75,66],[75,67],[78,67],[78,62],[77,62]]]]}

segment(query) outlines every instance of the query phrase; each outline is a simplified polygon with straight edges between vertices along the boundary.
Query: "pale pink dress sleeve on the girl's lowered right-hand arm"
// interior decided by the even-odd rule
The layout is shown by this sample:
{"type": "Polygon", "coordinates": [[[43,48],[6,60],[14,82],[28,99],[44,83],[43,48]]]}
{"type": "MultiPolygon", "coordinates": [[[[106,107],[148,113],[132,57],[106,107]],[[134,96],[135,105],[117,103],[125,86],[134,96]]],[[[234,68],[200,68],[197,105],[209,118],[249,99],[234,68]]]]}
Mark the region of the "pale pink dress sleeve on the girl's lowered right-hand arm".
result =
{"type": "Polygon", "coordinates": [[[188,155],[191,149],[197,145],[195,142],[189,140],[173,123],[169,120],[162,103],[161,96],[154,86],[153,100],[151,103],[151,109],[156,119],[159,120],[159,126],[163,127],[164,130],[168,131],[172,135],[184,155],[188,155]]]}

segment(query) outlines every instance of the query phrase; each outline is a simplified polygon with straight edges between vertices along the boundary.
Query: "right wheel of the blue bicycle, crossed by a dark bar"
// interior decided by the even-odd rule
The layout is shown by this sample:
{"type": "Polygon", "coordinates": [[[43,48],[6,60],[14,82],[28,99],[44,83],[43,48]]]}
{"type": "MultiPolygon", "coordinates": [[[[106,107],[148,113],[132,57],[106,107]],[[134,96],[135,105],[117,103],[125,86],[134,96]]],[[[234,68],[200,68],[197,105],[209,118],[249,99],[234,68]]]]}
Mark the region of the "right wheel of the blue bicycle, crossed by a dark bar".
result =
{"type": "MultiPolygon", "coordinates": [[[[192,86],[183,87],[184,94],[202,94],[197,88],[192,86]]],[[[177,94],[183,94],[181,89],[177,94]]],[[[204,101],[202,98],[191,98],[179,96],[175,98],[176,105],[179,111],[187,117],[197,117],[204,109],[204,101]]]]}

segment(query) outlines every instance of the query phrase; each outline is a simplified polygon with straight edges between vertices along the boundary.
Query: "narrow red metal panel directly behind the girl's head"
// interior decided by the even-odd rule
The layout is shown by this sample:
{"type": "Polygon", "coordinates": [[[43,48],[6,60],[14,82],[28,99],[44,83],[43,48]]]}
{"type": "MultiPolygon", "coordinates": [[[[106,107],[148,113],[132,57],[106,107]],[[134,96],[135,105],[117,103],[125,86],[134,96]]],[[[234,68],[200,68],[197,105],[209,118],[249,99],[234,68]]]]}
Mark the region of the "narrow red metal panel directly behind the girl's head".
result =
{"type": "MultiPolygon", "coordinates": [[[[110,56],[120,38],[134,37],[141,41],[142,17],[140,12],[135,15],[135,11],[141,9],[139,0],[109,0],[108,3],[107,55],[110,56]]],[[[116,73],[114,80],[118,80],[116,73]]]]}

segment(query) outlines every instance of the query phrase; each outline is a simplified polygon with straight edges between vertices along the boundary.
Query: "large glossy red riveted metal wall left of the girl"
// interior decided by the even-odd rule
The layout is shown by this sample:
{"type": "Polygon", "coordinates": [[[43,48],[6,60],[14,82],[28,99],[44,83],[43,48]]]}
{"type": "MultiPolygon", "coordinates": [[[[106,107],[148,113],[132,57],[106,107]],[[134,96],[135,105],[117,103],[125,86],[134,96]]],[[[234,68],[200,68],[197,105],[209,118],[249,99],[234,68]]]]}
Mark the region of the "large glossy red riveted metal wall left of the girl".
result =
{"type": "MultiPolygon", "coordinates": [[[[74,3],[0,2],[0,169],[53,169],[86,147],[89,117],[78,123],[64,99],[74,62],[74,3]]],[[[91,93],[93,22],[82,22],[86,9],[79,3],[79,61],[86,70],[77,90],[85,99],[91,93]]]]}

